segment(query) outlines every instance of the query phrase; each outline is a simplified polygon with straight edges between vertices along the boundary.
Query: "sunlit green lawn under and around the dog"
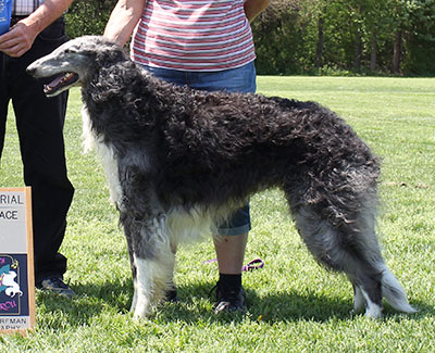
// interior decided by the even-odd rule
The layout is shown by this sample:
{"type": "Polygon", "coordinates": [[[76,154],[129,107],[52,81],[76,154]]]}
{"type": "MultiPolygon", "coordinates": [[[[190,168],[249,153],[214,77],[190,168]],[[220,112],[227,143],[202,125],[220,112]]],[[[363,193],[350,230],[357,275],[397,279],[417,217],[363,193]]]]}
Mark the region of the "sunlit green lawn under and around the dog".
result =
{"type": "MultiPolygon", "coordinates": [[[[435,351],[435,79],[259,77],[259,91],[314,100],[338,112],[383,157],[378,229],[386,262],[407,288],[415,315],[351,317],[352,290],[341,275],[314,263],[289,222],[282,194],[252,198],[247,261],[265,267],[244,275],[248,313],[216,317],[209,290],[217,273],[210,241],[181,249],[182,302],[148,319],[127,314],[130,273],[102,169],[80,147],[79,93],[71,93],[65,126],[69,171],[76,188],[62,252],[69,301],[37,293],[37,325],[27,338],[0,337],[12,351],[69,352],[433,352],[435,351]]],[[[44,118],[44,117],[41,117],[44,118]]],[[[0,186],[22,185],[12,119],[0,186]]]]}

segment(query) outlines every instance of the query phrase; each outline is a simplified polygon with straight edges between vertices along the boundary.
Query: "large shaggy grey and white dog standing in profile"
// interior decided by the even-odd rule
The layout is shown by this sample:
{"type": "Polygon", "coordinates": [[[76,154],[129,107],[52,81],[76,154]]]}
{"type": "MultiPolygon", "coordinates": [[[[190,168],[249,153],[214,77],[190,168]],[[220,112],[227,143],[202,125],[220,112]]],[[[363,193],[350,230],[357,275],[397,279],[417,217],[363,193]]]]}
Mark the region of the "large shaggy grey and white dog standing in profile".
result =
{"type": "Polygon", "coordinates": [[[28,73],[66,74],[48,96],[82,86],[85,140],[104,164],[127,239],[135,316],[163,299],[181,241],[213,234],[249,196],[275,187],[314,259],[351,281],[355,311],[380,317],[384,297],[414,312],[374,229],[380,162],[332,111],[175,87],[102,37],[71,40],[28,73]]]}

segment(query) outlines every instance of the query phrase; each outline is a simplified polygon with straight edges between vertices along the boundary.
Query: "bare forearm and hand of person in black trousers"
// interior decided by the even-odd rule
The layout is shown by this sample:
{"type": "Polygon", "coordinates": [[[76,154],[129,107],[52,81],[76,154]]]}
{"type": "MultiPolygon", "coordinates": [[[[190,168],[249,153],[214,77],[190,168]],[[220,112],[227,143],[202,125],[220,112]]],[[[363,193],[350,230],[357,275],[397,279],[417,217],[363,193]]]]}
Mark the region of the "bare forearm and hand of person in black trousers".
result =
{"type": "Polygon", "coordinates": [[[0,51],[15,58],[23,55],[32,48],[38,34],[59,18],[72,2],[73,0],[45,0],[34,13],[0,36],[0,51]]]}

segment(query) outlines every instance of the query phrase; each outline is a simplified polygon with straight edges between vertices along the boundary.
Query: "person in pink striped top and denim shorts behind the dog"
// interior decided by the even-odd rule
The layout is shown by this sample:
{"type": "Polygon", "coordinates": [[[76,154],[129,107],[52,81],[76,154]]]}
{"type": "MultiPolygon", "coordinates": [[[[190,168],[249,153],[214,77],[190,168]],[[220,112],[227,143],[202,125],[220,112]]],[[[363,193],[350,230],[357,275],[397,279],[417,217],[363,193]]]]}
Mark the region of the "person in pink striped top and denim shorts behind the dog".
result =
{"type": "MultiPolygon", "coordinates": [[[[133,61],[175,85],[254,92],[249,24],[269,4],[270,0],[119,0],[104,36],[124,46],[133,35],[133,61]]],[[[250,228],[249,203],[219,228],[216,314],[246,308],[241,268],[250,228]]],[[[177,300],[175,286],[166,297],[177,300]]]]}

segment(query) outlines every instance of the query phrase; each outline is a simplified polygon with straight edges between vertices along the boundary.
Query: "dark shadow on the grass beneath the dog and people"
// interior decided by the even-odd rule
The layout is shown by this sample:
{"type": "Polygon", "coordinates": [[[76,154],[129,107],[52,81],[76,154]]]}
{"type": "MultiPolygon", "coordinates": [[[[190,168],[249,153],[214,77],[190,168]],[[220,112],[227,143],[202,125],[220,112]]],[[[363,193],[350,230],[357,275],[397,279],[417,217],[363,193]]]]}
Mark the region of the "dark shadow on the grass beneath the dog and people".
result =
{"type": "MultiPolygon", "coordinates": [[[[247,312],[244,314],[220,314],[214,315],[214,293],[210,294],[212,283],[192,283],[178,288],[178,303],[164,303],[151,319],[159,323],[172,323],[183,320],[187,324],[199,322],[207,323],[243,323],[262,322],[273,325],[277,322],[318,322],[324,323],[331,319],[352,319],[350,311],[351,301],[326,297],[319,293],[281,292],[260,298],[256,291],[247,290],[247,312]]],[[[95,316],[103,313],[113,315],[127,314],[133,298],[132,280],[123,282],[105,282],[103,285],[77,285],[74,286],[77,298],[73,300],[39,293],[38,304],[46,312],[62,312],[59,325],[65,320],[75,327],[88,324],[95,316]]],[[[385,317],[388,319],[402,318],[421,319],[427,315],[435,314],[434,308],[425,303],[412,303],[419,308],[413,315],[398,314],[391,307],[386,306],[385,317]]],[[[362,314],[361,314],[362,315],[362,314]]],[[[51,326],[57,326],[51,320],[51,326]]]]}

